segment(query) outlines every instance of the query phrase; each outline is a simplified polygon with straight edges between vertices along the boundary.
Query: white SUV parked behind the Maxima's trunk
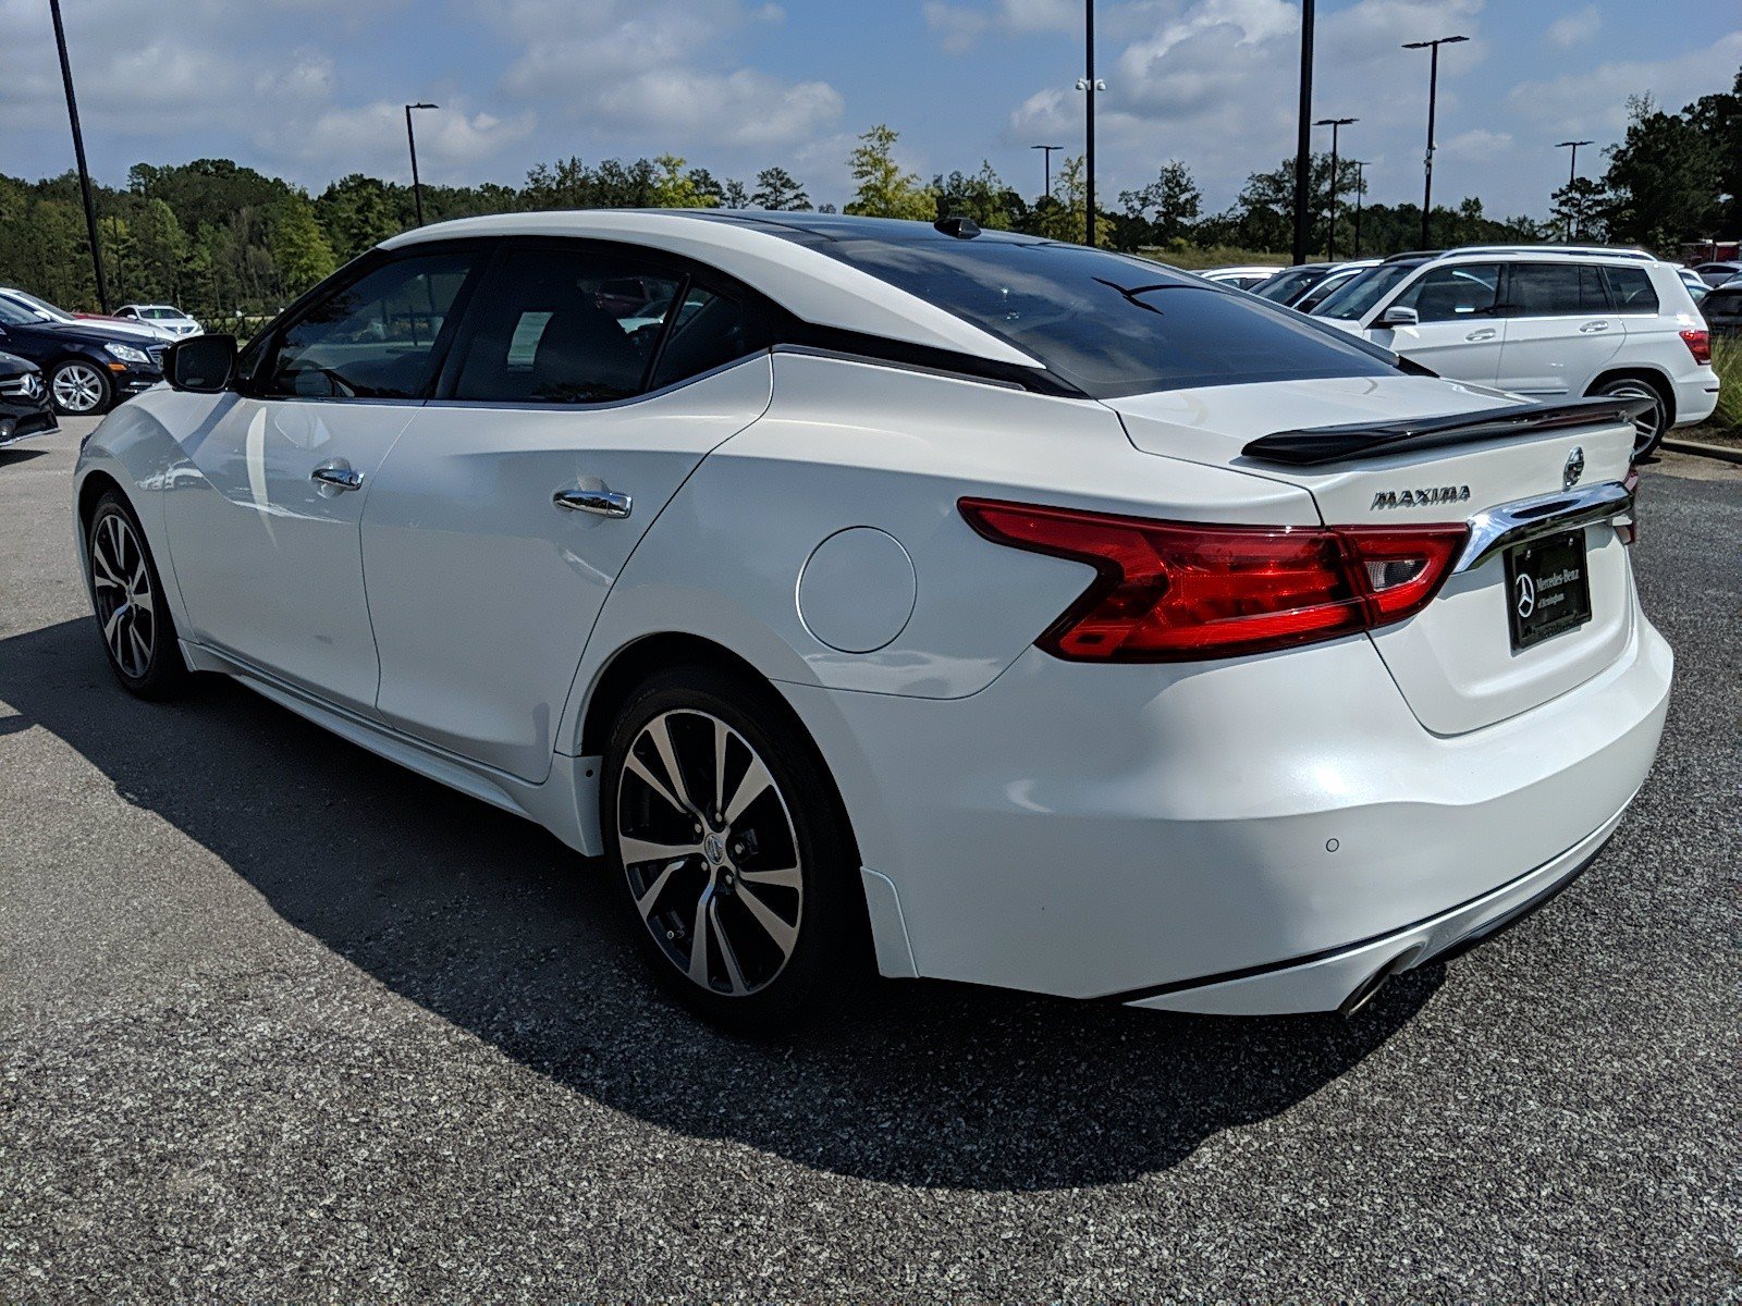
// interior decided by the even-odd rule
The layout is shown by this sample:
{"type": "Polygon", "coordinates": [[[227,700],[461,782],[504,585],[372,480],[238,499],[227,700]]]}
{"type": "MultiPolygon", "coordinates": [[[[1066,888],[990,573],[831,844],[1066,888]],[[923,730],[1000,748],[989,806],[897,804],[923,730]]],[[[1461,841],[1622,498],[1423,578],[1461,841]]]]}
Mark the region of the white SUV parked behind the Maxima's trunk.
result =
{"type": "Polygon", "coordinates": [[[1712,338],[1681,270],[1580,246],[1395,254],[1313,310],[1441,376],[1526,399],[1644,401],[1634,456],[1718,406],[1712,338]]]}

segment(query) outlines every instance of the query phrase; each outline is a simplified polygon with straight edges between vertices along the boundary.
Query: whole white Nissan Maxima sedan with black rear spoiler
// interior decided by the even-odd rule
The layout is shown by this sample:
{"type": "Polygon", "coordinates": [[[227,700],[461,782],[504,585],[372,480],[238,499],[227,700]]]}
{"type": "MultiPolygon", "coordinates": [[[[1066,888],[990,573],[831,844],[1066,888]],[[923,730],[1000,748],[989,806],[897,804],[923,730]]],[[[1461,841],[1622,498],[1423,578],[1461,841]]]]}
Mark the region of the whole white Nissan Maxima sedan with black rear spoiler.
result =
{"type": "Polygon", "coordinates": [[[78,460],[120,683],[233,676],[603,855],[737,1027],[873,966],[1352,1010],[1583,871],[1664,724],[1634,401],[1134,258],[479,218],[167,371],[78,460]]]}

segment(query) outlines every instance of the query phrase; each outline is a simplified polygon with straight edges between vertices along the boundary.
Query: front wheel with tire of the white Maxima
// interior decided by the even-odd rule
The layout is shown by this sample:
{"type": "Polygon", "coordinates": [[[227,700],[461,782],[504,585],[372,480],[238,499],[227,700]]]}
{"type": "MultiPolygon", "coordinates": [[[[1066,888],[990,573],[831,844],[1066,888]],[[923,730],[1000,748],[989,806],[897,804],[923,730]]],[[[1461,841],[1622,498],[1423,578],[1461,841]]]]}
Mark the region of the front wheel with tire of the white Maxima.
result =
{"type": "Polygon", "coordinates": [[[138,698],[171,698],[188,684],[176,620],[164,599],[145,531],[113,489],[98,500],[85,533],[91,611],[103,651],[122,688],[138,698]]]}

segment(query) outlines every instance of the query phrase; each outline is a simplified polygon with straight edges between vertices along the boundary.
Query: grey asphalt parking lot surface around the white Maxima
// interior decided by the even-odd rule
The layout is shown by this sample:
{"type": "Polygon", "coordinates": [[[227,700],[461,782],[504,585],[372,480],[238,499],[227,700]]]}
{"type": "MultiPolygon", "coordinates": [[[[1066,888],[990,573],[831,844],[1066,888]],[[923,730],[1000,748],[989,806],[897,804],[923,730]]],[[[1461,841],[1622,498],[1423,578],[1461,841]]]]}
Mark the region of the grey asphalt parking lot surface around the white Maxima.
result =
{"type": "Polygon", "coordinates": [[[1742,468],[1648,472],[1664,751],[1496,942],[1352,1020],[890,984],[766,1048],[538,829],[226,683],[127,698],[89,427],[0,451],[0,1299],[1739,1292],[1742,468]]]}

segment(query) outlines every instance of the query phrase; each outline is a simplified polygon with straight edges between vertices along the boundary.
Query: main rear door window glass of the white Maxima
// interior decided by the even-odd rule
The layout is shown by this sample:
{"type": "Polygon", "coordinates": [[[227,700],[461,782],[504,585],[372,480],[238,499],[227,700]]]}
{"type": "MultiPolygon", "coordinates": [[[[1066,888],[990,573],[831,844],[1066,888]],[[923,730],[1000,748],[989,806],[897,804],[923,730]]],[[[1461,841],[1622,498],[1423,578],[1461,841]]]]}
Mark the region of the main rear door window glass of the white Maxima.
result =
{"type": "Polygon", "coordinates": [[[599,404],[641,394],[679,280],[632,256],[512,251],[477,293],[455,397],[599,404]]]}

